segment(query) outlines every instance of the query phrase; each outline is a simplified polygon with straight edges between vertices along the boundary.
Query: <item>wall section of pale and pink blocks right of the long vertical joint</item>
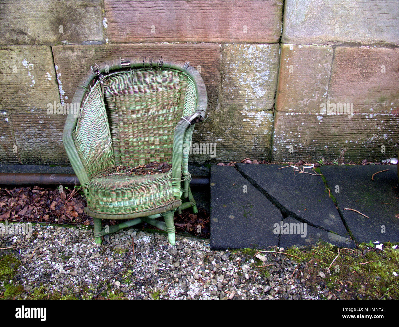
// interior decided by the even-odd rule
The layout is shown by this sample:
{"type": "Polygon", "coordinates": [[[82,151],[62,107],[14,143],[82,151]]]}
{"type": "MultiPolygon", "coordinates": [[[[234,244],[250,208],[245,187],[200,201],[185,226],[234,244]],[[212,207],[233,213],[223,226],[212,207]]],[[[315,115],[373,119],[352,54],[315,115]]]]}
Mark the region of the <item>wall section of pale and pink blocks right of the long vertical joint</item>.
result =
{"type": "Polygon", "coordinates": [[[286,0],[283,26],[273,159],[396,158],[397,1],[286,0]]]}

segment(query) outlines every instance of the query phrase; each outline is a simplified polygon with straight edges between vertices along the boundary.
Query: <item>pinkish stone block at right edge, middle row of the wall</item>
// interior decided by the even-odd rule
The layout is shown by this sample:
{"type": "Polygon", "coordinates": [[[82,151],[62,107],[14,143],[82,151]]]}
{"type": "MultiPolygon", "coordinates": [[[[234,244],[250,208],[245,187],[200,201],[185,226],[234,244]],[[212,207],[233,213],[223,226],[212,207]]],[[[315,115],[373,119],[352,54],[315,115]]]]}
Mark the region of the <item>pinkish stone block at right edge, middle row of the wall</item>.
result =
{"type": "Polygon", "coordinates": [[[334,50],[328,98],[353,105],[355,113],[389,114],[399,107],[399,49],[350,48],[334,50]]]}

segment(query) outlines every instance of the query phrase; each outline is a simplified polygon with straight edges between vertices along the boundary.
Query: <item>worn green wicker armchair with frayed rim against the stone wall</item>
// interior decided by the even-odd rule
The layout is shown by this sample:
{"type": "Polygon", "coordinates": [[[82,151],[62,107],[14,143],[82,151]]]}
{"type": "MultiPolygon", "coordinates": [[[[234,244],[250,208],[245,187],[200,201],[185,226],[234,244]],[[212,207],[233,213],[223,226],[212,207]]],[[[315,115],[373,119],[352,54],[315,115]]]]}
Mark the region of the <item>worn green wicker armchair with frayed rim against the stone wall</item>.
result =
{"type": "Polygon", "coordinates": [[[162,58],[107,61],[91,67],[72,103],[79,114],[68,114],[63,144],[85,192],[85,212],[94,218],[96,243],[145,221],[165,230],[174,245],[174,211],[197,212],[186,151],[207,108],[197,70],[162,58]],[[103,173],[150,162],[167,162],[172,169],[153,175],[103,173]],[[165,222],[156,220],[160,216],[165,222]],[[102,228],[102,219],[132,220],[102,228]]]}

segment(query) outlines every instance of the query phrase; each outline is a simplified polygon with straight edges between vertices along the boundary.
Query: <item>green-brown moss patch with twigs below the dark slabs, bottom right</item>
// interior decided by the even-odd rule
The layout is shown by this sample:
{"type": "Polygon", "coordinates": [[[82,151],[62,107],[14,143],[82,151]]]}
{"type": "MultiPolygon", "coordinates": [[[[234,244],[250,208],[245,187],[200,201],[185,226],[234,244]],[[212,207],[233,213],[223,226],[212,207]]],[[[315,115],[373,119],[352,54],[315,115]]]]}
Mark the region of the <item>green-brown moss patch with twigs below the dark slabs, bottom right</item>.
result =
{"type": "Polygon", "coordinates": [[[305,272],[311,285],[327,288],[339,299],[399,299],[399,251],[390,244],[382,251],[361,246],[359,249],[340,249],[328,243],[312,248],[292,247],[286,253],[300,257],[307,263],[305,272]],[[326,277],[320,277],[320,271],[326,277]]]}

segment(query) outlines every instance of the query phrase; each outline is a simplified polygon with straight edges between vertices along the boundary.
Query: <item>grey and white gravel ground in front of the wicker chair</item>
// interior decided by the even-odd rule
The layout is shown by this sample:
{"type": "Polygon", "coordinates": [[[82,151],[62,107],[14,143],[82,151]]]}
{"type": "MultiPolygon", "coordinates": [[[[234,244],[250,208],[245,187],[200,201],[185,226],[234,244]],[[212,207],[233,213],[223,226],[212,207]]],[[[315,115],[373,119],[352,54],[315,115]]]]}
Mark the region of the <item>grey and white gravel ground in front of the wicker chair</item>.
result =
{"type": "Polygon", "coordinates": [[[208,239],[180,235],[170,246],[164,234],[128,229],[97,245],[87,227],[33,225],[30,238],[0,235],[0,247],[20,261],[0,284],[2,297],[7,283],[23,286],[22,299],[39,289],[83,299],[318,299],[324,292],[307,286],[306,263],[293,257],[211,251],[208,239]]]}

